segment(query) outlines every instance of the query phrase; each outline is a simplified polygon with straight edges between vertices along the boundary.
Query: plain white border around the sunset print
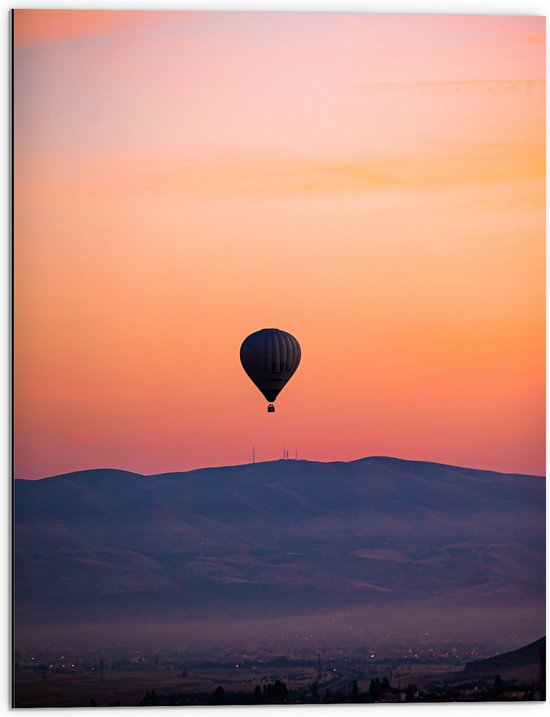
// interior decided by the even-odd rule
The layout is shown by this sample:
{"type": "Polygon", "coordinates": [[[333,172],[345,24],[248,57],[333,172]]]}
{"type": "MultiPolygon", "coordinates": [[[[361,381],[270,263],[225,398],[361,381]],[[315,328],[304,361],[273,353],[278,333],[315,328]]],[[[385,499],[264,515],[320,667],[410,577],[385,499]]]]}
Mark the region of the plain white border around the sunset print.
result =
{"type": "MultiPolygon", "coordinates": [[[[246,11],[311,11],[311,12],[384,12],[384,13],[414,13],[414,14],[429,14],[429,13],[441,13],[441,14],[475,14],[475,15],[546,15],[550,5],[545,0],[448,0],[443,2],[442,0],[423,0],[422,2],[415,0],[393,0],[383,2],[367,2],[366,0],[210,0],[210,1],[199,1],[199,0],[187,0],[187,2],[170,2],[164,0],[160,5],[155,5],[153,2],[143,2],[140,0],[118,0],[113,2],[82,2],[75,3],[69,0],[50,0],[50,2],[44,2],[44,0],[23,0],[12,5],[4,0],[0,0],[3,10],[3,37],[6,39],[4,45],[4,52],[0,57],[1,72],[0,77],[3,83],[3,96],[5,102],[4,107],[9,107],[9,85],[10,85],[10,49],[9,49],[9,26],[10,16],[9,10],[12,7],[16,8],[35,8],[35,9],[105,9],[105,10],[246,10],[246,11]]],[[[3,162],[4,172],[1,174],[1,184],[3,189],[3,196],[7,198],[9,196],[10,186],[10,173],[9,173],[9,122],[8,113],[3,112],[0,121],[2,122],[2,136],[4,137],[4,158],[3,162]]],[[[8,214],[5,213],[6,220],[6,232],[5,236],[9,238],[9,224],[8,214]]],[[[6,341],[2,343],[0,349],[0,372],[5,380],[1,382],[0,391],[1,400],[0,404],[5,406],[5,410],[0,414],[0,428],[1,434],[4,436],[4,440],[0,443],[0,457],[1,464],[6,467],[6,482],[3,490],[4,504],[5,504],[5,516],[6,516],[6,529],[0,533],[0,541],[5,543],[1,555],[3,556],[4,562],[2,563],[2,575],[7,579],[9,584],[9,553],[10,553],[10,542],[11,542],[11,506],[10,506],[10,492],[9,492],[9,475],[10,469],[10,448],[9,448],[9,426],[10,426],[10,389],[9,389],[9,241],[6,241],[2,246],[0,253],[0,262],[2,263],[1,276],[1,289],[0,289],[0,333],[3,337],[6,337],[6,341]]],[[[548,561],[548,551],[547,551],[548,561]]],[[[548,567],[548,563],[547,563],[548,567]]],[[[8,695],[11,694],[10,685],[10,663],[11,663],[11,645],[9,641],[10,634],[10,597],[9,589],[0,591],[1,604],[2,604],[2,615],[4,616],[5,639],[2,641],[5,645],[3,651],[0,652],[0,672],[4,676],[3,683],[6,689],[2,690],[2,696],[0,697],[0,714],[7,714],[9,711],[8,695]]],[[[470,717],[472,714],[480,714],[481,717],[493,717],[493,715],[504,715],[507,717],[513,717],[515,715],[523,714],[525,711],[531,710],[530,714],[537,717],[543,712],[546,713],[550,710],[550,703],[546,704],[521,704],[521,703],[506,703],[506,704],[462,704],[452,703],[449,705],[434,704],[434,705],[370,705],[368,710],[375,710],[375,714],[381,714],[382,711],[390,710],[392,715],[397,717],[407,717],[403,715],[406,711],[407,714],[411,710],[414,715],[413,717],[421,717],[422,715],[428,714],[435,717],[436,714],[443,710],[445,714],[452,714],[453,717],[470,717]]],[[[120,709],[120,708],[118,708],[120,709]]],[[[162,708],[164,710],[169,708],[162,708]]],[[[71,710],[72,712],[73,710],[71,710]]],[[[82,710],[77,709],[78,712],[82,710]]],[[[115,709],[109,709],[102,707],[100,715],[114,713],[115,709]]],[[[185,713],[190,715],[201,715],[204,717],[223,717],[225,714],[236,715],[242,711],[247,714],[254,715],[267,715],[277,714],[286,717],[291,715],[303,715],[304,717],[335,717],[335,715],[350,715],[355,717],[356,715],[363,714],[365,706],[363,705],[296,705],[296,706],[269,706],[261,708],[242,708],[242,707],[224,707],[224,708],[210,708],[210,707],[188,707],[185,708],[185,713]]],[[[25,713],[36,713],[44,715],[44,710],[27,709],[25,713]]],[[[49,709],[47,714],[53,715],[64,715],[67,717],[66,709],[49,709]]],[[[159,708],[139,708],[139,714],[144,715],[158,715],[159,708]]]]}

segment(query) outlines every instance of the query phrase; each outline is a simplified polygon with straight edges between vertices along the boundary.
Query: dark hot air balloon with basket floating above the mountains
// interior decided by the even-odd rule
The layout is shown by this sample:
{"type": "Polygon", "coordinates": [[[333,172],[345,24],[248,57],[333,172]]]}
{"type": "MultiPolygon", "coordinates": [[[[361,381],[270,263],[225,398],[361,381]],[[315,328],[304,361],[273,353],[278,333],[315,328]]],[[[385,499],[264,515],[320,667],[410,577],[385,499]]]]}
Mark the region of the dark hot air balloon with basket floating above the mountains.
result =
{"type": "Polygon", "coordinates": [[[298,368],[301,357],[298,341],[280,329],[261,329],[243,341],[241,363],[269,401],[268,413],[275,411],[273,401],[298,368]]]}

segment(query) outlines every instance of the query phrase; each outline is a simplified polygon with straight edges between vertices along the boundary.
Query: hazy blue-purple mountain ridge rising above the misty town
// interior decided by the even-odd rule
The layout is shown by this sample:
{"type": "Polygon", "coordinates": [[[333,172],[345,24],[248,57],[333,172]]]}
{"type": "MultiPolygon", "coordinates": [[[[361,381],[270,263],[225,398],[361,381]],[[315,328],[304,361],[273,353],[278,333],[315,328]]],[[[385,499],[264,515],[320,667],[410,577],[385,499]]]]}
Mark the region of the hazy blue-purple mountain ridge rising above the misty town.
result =
{"type": "Polygon", "coordinates": [[[15,536],[23,627],[417,607],[527,610],[544,631],[537,476],[384,457],[79,471],[15,482],[15,536]]]}

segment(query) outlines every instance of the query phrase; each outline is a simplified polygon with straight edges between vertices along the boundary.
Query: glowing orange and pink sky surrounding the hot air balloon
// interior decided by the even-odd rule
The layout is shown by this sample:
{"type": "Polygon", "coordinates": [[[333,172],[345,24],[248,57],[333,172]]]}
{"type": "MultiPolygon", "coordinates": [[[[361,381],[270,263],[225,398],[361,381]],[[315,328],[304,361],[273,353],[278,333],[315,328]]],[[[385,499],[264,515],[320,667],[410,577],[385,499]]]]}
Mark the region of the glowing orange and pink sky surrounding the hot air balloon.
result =
{"type": "Polygon", "coordinates": [[[545,470],[541,17],[15,15],[15,473],[545,470]],[[275,414],[252,331],[302,363],[275,414]]]}

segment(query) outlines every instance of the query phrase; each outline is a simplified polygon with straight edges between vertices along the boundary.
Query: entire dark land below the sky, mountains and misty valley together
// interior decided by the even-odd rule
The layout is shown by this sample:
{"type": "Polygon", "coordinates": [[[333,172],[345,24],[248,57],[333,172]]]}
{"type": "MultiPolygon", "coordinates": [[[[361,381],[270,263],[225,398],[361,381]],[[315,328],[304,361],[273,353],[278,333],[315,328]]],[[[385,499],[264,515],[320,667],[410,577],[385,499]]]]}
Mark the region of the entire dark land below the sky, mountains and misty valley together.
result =
{"type": "Polygon", "coordinates": [[[16,481],[15,530],[18,706],[540,699],[541,477],[82,471],[16,481]]]}

